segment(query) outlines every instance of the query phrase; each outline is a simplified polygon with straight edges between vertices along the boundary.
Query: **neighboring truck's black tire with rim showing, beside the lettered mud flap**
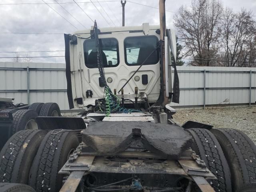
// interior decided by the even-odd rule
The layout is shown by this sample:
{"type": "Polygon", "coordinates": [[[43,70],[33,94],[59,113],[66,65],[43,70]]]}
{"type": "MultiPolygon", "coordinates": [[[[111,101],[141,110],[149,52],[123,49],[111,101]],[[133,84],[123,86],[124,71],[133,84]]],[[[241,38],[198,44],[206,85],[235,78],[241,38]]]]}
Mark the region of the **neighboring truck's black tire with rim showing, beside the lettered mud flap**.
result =
{"type": "Polygon", "coordinates": [[[15,112],[12,116],[12,134],[20,130],[38,129],[38,124],[35,121],[36,117],[38,116],[36,111],[30,109],[22,109],[15,112]]]}

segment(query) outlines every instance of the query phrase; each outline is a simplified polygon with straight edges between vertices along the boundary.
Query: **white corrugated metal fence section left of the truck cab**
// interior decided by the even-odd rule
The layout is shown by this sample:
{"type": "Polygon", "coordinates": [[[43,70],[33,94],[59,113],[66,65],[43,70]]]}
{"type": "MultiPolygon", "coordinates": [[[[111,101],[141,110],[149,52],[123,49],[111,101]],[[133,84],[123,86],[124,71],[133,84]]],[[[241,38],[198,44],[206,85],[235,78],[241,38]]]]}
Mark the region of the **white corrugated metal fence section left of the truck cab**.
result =
{"type": "Polygon", "coordinates": [[[14,103],[56,102],[69,109],[63,63],[0,62],[0,82],[0,97],[14,103]]]}

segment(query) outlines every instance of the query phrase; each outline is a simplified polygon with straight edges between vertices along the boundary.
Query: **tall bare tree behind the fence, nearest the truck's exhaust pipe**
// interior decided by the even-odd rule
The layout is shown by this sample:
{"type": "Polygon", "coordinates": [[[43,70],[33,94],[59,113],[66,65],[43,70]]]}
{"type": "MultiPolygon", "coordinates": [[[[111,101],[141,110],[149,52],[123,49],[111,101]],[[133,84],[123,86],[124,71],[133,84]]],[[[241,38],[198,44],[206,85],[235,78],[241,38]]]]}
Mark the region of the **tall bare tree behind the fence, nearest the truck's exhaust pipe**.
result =
{"type": "Polygon", "coordinates": [[[217,58],[222,4],[218,0],[192,0],[192,7],[181,6],[174,16],[178,36],[185,43],[192,65],[210,66],[217,58]]]}

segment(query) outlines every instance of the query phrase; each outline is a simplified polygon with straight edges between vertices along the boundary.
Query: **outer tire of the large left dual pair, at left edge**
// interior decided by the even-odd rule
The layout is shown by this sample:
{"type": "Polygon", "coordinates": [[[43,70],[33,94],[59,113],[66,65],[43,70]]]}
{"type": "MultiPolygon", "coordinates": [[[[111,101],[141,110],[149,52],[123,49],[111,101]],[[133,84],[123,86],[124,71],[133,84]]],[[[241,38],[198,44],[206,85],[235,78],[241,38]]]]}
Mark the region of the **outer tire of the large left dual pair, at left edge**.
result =
{"type": "Polygon", "coordinates": [[[14,134],[0,152],[0,182],[28,184],[30,168],[44,130],[22,130],[14,134]]]}

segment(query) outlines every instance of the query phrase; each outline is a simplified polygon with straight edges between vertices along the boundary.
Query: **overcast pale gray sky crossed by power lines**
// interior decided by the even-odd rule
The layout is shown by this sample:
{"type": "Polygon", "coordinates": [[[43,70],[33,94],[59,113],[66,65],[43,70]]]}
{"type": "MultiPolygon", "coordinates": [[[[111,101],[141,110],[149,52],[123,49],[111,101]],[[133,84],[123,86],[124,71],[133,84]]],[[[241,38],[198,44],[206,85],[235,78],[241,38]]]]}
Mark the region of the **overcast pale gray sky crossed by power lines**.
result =
{"type": "MultiPolygon", "coordinates": [[[[49,51],[64,50],[64,33],[72,33],[78,29],[90,28],[93,22],[84,12],[74,3],[73,0],[0,0],[0,52],[14,51],[49,51]],[[68,3],[61,4],[72,16],[70,16],[60,5],[49,4],[58,15],[46,3],[68,3]],[[3,4],[19,5],[3,5],[3,4]],[[22,4],[20,3],[38,3],[22,4]],[[75,28],[76,27],[76,28],[75,28]],[[1,34],[4,32],[19,33],[59,33],[59,34],[1,34]]],[[[94,5],[102,12],[105,20],[96,10],[90,0],[75,0],[79,6],[94,20],[96,19],[100,27],[121,26],[122,25],[122,6],[116,0],[92,0],[94,5]],[[86,3],[85,3],[86,2],[86,3]],[[104,10],[108,13],[108,16],[104,10]],[[115,15],[115,16],[114,16],[115,15]]],[[[141,25],[143,22],[159,24],[159,13],[155,8],[142,6],[132,2],[137,2],[147,6],[158,7],[158,0],[130,0],[125,5],[125,24],[126,26],[141,25]]],[[[190,6],[191,0],[166,0],[166,22],[167,26],[172,24],[173,15],[181,5],[190,6]],[[169,12],[170,11],[170,12],[169,12]]],[[[256,14],[256,0],[222,0],[224,6],[230,6],[234,11],[239,11],[242,7],[252,10],[256,14]]],[[[26,53],[20,53],[25,56],[26,53]]],[[[40,52],[28,53],[29,56],[64,56],[64,52],[40,52]]],[[[0,57],[12,57],[13,53],[0,53],[0,57]]],[[[32,58],[33,62],[65,62],[64,58],[32,58]]],[[[12,61],[12,59],[0,58],[0,62],[12,61]]]]}

